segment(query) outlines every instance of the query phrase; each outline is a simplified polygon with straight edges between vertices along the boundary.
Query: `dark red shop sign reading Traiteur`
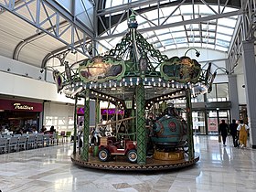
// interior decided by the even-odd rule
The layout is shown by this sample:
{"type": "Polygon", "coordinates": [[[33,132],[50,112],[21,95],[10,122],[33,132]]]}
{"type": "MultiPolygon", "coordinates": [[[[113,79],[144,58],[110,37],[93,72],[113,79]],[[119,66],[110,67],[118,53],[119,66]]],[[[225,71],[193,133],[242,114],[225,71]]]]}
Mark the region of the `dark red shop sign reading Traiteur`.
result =
{"type": "Polygon", "coordinates": [[[0,110],[43,112],[43,104],[38,102],[0,100],[0,110]]]}

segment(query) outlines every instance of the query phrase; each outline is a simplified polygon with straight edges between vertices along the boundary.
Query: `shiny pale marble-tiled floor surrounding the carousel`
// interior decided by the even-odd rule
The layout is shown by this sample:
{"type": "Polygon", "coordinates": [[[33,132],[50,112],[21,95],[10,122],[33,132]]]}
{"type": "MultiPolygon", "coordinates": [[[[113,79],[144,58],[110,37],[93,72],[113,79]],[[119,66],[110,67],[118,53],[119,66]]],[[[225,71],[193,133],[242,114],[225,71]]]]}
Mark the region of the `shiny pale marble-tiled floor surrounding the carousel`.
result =
{"type": "Polygon", "coordinates": [[[196,165],[165,172],[110,172],[73,165],[72,144],[0,155],[0,190],[255,192],[256,150],[226,147],[217,136],[196,136],[196,165]]]}

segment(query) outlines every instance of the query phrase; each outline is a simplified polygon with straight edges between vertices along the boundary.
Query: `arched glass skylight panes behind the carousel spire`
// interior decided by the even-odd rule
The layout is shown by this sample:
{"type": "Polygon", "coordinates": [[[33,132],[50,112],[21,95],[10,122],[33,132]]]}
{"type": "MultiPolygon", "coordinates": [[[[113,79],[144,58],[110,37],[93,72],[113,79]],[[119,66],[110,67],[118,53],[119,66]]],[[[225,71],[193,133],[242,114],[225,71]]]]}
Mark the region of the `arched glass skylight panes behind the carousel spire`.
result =
{"type": "MultiPolygon", "coordinates": [[[[138,0],[123,0],[123,1],[106,1],[106,8],[115,5],[122,5],[138,0]]],[[[164,1],[165,2],[165,1],[164,1]]],[[[173,2],[173,1],[166,1],[173,2]]],[[[162,4],[162,1],[161,1],[162,4]]],[[[147,7],[149,5],[146,5],[147,7]]],[[[141,8],[141,7],[140,7],[141,8]]],[[[162,7],[159,10],[150,10],[148,12],[138,14],[135,11],[136,20],[139,24],[139,29],[155,27],[155,30],[141,33],[149,43],[160,51],[165,51],[173,48],[211,48],[220,51],[228,51],[230,41],[232,39],[238,16],[230,16],[225,18],[213,19],[210,21],[201,21],[197,24],[182,25],[182,22],[194,18],[202,18],[204,16],[216,15],[218,9],[223,10],[223,13],[237,11],[238,9],[223,7],[219,5],[194,5],[194,15],[192,5],[174,5],[162,7]],[[216,12],[216,13],[215,13],[216,12]],[[172,13],[172,15],[170,15],[172,13]],[[181,22],[176,27],[161,27],[162,25],[181,22]],[[159,25],[160,24],[160,25],[159,25]],[[159,29],[157,26],[160,26],[159,29]]],[[[120,13],[120,12],[119,12],[120,13]]],[[[114,14],[112,14],[114,15],[114,14]]],[[[127,20],[120,23],[117,27],[112,27],[111,33],[119,34],[126,32],[127,20]]],[[[109,33],[104,33],[101,37],[106,37],[100,43],[106,48],[113,48],[122,37],[107,38],[109,33]]]]}

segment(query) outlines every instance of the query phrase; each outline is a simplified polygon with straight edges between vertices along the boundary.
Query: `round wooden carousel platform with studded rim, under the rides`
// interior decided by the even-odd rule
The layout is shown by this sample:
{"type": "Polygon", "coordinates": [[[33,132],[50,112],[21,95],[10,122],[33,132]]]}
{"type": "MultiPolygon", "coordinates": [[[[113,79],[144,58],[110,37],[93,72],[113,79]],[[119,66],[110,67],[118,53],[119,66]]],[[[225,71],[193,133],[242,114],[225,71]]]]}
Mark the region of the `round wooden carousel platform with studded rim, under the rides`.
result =
{"type": "Polygon", "coordinates": [[[97,156],[90,155],[89,161],[85,162],[80,158],[80,155],[71,155],[71,160],[76,165],[95,169],[118,171],[157,171],[171,170],[195,165],[199,160],[199,155],[195,153],[195,157],[191,160],[185,157],[182,160],[176,161],[156,160],[151,157],[146,159],[146,165],[131,164],[126,161],[125,156],[116,156],[112,161],[101,162],[97,156]]]}

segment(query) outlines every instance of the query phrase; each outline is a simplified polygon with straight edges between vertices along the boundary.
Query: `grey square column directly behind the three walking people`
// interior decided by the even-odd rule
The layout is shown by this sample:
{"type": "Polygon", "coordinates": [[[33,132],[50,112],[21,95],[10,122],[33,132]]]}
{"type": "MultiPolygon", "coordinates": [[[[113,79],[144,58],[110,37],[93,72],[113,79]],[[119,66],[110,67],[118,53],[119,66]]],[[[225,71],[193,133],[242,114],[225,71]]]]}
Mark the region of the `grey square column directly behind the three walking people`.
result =
{"type": "Polygon", "coordinates": [[[237,85],[237,75],[229,75],[229,100],[231,101],[231,119],[239,120],[240,107],[237,85]]]}

